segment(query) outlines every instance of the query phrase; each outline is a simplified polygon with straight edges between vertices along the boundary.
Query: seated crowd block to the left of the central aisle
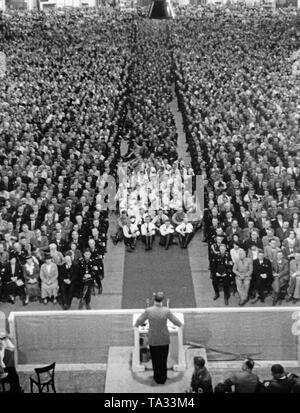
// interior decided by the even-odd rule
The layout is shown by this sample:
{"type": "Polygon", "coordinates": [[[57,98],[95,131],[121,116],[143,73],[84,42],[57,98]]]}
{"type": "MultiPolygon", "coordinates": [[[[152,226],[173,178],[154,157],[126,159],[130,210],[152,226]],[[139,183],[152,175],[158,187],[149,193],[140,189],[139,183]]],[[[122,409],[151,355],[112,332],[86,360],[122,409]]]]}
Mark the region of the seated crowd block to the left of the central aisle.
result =
{"type": "Polygon", "coordinates": [[[134,27],[105,10],[12,13],[0,83],[1,298],[102,292],[134,27]],[[111,38],[112,36],[112,38],[111,38]],[[100,200],[99,200],[100,194],[100,200]]]}

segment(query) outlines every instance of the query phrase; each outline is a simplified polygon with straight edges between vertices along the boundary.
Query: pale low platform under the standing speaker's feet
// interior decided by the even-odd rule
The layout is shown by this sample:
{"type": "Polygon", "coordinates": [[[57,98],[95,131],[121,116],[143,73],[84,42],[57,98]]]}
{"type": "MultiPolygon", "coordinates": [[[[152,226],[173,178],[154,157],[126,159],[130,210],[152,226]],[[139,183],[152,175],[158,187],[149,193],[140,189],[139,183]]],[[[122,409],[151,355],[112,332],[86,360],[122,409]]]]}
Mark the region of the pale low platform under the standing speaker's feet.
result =
{"type": "Polygon", "coordinates": [[[193,374],[193,358],[202,356],[206,360],[205,349],[185,347],[187,369],[176,372],[168,369],[165,384],[153,380],[151,361],[144,372],[134,373],[131,369],[133,347],[110,347],[105,382],[105,393],[184,393],[189,388],[193,374]]]}

